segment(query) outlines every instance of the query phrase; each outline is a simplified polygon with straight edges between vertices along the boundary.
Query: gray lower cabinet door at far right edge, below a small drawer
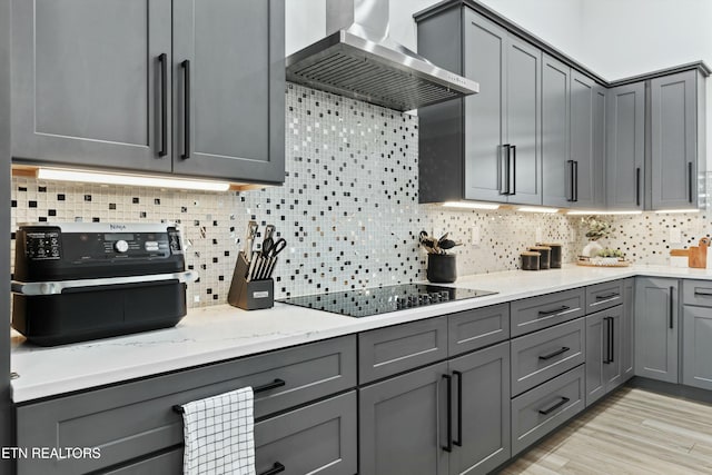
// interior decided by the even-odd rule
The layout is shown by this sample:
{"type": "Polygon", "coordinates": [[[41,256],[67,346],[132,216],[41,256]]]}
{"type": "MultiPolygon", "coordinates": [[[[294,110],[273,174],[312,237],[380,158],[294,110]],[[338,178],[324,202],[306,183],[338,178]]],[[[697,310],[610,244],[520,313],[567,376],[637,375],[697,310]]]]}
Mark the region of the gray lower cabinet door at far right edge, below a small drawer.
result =
{"type": "Polygon", "coordinates": [[[712,308],[684,306],[682,383],[712,389],[712,308]]]}

